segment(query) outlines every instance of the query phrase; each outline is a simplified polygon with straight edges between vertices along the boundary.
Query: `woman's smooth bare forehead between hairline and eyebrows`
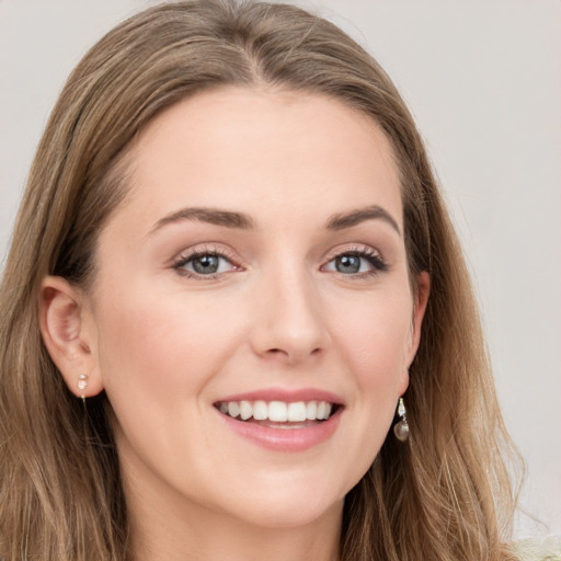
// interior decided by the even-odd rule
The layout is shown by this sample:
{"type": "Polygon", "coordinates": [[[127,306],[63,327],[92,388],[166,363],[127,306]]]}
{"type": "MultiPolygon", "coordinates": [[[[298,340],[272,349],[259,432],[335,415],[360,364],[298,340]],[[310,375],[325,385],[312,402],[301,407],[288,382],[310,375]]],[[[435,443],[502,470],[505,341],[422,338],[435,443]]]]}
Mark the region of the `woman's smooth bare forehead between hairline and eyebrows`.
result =
{"type": "Polygon", "coordinates": [[[290,219],[295,209],[331,214],[377,204],[402,222],[386,135],[324,95],[242,88],[196,94],[148,124],[129,162],[125,209],[141,203],[153,216],[182,205],[242,206],[265,220],[272,213],[290,219]]]}

